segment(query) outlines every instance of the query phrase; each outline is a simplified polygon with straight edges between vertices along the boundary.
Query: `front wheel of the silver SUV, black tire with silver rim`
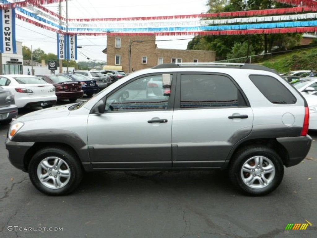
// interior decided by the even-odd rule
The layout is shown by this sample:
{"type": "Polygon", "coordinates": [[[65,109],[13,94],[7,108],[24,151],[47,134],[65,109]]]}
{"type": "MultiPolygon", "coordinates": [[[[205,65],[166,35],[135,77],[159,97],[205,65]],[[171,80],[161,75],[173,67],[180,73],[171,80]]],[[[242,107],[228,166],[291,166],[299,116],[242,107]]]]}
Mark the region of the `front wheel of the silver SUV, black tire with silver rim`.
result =
{"type": "Polygon", "coordinates": [[[70,149],[59,146],[45,147],[33,155],[29,163],[29,177],[33,185],[44,194],[67,195],[80,184],[83,169],[77,155],[70,149]],[[56,167],[54,162],[57,163],[56,167]],[[41,163],[47,169],[44,169],[41,163]],[[39,176],[43,176],[46,181],[40,181],[39,176]],[[58,182],[61,188],[58,188],[58,182]]]}

